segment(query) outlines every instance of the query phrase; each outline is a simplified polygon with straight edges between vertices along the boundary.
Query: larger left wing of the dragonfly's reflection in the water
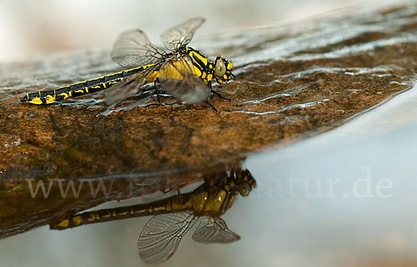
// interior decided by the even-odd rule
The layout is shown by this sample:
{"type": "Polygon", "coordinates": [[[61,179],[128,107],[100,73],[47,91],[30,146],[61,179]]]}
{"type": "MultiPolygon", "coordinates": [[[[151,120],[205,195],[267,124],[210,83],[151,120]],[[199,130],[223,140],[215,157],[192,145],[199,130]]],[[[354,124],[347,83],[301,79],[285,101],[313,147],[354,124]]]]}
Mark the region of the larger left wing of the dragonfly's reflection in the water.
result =
{"type": "Polygon", "coordinates": [[[197,221],[188,212],[158,214],[152,217],[140,233],[138,250],[148,264],[159,264],[177,250],[181,238],[197,221]]]}

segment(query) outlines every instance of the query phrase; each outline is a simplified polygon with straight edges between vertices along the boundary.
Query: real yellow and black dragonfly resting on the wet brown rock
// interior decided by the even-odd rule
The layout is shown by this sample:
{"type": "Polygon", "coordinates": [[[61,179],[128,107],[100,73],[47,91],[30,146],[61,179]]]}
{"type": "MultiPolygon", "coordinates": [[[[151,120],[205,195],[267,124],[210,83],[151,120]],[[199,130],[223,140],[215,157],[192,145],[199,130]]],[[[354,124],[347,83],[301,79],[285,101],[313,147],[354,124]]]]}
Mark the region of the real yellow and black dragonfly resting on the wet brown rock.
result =
{"type": "Polygon", "coordinates": [[[230,101],[215,92],[211,83],[215,80],[221,85],[229,81],[233,76],[232,62],[220,55],[211,61],[202,52],[187,46],[204,20],[202,17],[189,19],[162,33],[161,40],[169,53],[152,44],[143,31],[124,31],[113,45],[111,58],[126,70],[56,89],[29,93],[21,101],[44,105],[106,90],[106,102],[113,105],[136,94],[147,83],[154,83],[158,99],[158,104],[151,105],[161,105],[161,89],[186,104],[206,101],[214,108],[207,101],[210,92],[230,101]]]}

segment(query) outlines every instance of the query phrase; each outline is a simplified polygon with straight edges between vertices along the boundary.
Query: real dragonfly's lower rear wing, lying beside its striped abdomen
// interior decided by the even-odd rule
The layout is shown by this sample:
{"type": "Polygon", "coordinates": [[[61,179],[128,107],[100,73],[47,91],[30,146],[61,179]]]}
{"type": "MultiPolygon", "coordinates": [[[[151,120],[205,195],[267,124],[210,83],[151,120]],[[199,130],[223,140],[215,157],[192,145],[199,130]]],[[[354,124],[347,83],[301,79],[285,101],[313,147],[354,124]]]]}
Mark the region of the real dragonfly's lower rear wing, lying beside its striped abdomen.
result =
{"type": "Polygon", "coordinates": [[[136,94],[138,89],[142,85],[145,85],[147,78],[160,66],[161,64],[154,64],[153,66],[147,67],[137,74],[133,74],[132,76],[129,76],[128,78],[106,89],[106,91],[104,91],[106,103],[108,105],[113,105],[114,103],[122,101],[124,98],[129,97],[132,94],[136,94]]]}

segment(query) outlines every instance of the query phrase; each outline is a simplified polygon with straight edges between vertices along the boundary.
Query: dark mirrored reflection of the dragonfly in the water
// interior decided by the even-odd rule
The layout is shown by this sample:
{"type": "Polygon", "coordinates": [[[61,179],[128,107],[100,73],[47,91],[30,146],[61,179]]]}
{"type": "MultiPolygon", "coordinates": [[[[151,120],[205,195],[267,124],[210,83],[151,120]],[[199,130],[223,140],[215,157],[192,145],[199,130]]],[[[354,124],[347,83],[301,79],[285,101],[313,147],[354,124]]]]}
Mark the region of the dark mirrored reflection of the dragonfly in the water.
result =
{"type": "Polygon", "coordinates": [[[51,229],[65,230],[90,223],[154,215],[138,239],[140,257],[147,263],[159,264],[177,250],[181,238],[203,216],[193,239],[199,243],[231,243],[240,236],[229,230],[220,216],[234,203],[236,195],[249,196],[256,187],[250,171],[233,167],[204,179],[197,189],[152,203],[83,212],[56,223],[51,229]]]}

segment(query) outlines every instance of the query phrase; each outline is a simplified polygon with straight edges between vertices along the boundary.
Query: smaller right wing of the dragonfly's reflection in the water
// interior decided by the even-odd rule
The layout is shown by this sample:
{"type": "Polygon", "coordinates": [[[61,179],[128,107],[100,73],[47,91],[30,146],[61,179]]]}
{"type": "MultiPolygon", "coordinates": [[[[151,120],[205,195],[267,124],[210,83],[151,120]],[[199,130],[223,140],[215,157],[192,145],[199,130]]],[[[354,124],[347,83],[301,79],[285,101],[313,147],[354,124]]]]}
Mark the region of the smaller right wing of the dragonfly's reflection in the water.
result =
{"type": "Polygon", "coordinates": [[[231,243],[238,241],[240,236],[229,230],[224,220],[220,217],[208,217],[202,219],[197,230],[193,234],[194,241],[199,243],[231,243]]]}

